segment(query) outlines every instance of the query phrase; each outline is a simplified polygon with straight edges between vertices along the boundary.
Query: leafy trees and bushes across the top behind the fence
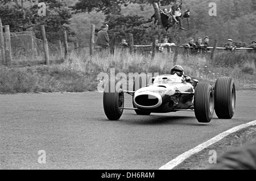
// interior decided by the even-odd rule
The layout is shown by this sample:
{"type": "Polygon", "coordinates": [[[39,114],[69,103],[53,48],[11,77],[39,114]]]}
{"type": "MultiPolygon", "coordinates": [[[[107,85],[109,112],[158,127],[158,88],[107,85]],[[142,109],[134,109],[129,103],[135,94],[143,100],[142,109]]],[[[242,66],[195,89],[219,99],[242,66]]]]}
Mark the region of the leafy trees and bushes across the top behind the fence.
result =
{"type": "MultiPolygon", "coordinates": [[[[88,47],[90,25],[95,24],[97,32],[103,23],[109,24],[110,35],[133,33],[136,44],[150,43],[152,35],[158,33],[152,23],[146,23],[154,14],[151,2],[160,2],[161,9],[169,9],[173,0],[24,0],[24,11],[20,1],[0,1],[2,23],[10,25],[11,32],[36,31],[38,25],[46,24],[47,32],[61,32],[64,28],[68,30],[69,41],[79,41],[80,47],[88,47]],[[46,2],[47,16],[36,15],[39,7],[31,5],[38,2],[46,2]]],[[[179,32],[182,43],[189,37],[204,36],[218,39],[219,47],[230,38],[246,45],[256,40],[255,0],[183,0],[183,11],[185,9],[191,9],[191,17],[188,22],[184,19],[187,30],[179,32]],[[217,4],[217,16],[209,16],[210,2],[217,4]]]]}

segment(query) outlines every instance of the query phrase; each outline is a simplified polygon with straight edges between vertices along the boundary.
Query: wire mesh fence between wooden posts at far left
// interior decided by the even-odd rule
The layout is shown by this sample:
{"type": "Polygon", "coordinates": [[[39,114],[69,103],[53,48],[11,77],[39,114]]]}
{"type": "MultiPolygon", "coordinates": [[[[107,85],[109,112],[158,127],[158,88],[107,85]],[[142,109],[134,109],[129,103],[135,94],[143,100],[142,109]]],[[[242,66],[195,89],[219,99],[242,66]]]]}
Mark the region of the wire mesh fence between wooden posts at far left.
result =
{"type": "MultiPolygon", "coordinates": [[[[3,32],[0,56],[2,60],[10,59],[12,64],[19,61],[44,61],[44,43],[41,32],[3,32]],[[6,57],[9,54],[9,57],[6,57]]],[[[46,33],[50,60],[64,56],[63,37],[61,33],[46,33]]],[[[7,60],[5,60],[7,61],[7,60]]],[[[2,61],[3,62],[3,61],[2,61]]]]}

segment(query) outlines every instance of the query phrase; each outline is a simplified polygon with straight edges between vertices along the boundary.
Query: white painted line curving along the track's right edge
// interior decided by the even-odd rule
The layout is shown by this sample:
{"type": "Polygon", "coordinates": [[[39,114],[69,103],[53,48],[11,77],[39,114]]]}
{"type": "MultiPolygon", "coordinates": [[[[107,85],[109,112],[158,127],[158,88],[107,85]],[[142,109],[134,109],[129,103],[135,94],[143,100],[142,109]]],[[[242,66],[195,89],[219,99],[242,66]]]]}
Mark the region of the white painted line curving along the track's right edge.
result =
{"type": "Polygon", "coordinates": [[[237,127],[229,129],[228,131],[220,133],[217,136],[211,138],[210,140],[208,140],[206,142],[203,142],[203,144],[200,144],[200,145],[196,146],[195,148],[193,148],[191,150],[188,150],[185,153],[177,156],[175,159],[172,159],[170,162],[166,163],[166,165],[160,167],[159,170],[172,170],[174,167],[179,165],[185,159],[191,157],[191,155],[193,155],[195,153],[199,153],[199,151],[207,148],[208,146],[216,143],[217,141],[222,140],[224,137],[228,136],[229,134],[237,132],[240,129],[251,127],[251,126],[254,126],[254,125],[256,125],[256,120],[251,121],[251,122],[246,123],[246,124],[239,125],[237,127]]]}

